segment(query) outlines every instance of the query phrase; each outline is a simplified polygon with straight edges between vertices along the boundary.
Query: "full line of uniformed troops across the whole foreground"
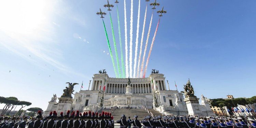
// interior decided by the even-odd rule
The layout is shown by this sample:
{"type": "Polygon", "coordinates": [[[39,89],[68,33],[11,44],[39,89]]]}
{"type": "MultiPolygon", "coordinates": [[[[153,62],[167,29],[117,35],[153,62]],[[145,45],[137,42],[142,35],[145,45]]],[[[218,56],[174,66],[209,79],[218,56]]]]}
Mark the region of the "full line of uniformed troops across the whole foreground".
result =
{"type": "MultiPolygon", "coordinates": [[[[28,119],[27,116],[19,117],[0,117],[0,128],[114,128],[114,120],[111,113],[84,112],[79,111],[63,112],[58,116],[51,112],[49,116],[42,117],[39,111],[35,118],[28,119]]],[[[138,115],[128,119],[122,115],[116,121],[120,128],[256,128],[254,117],[219,117],[219,116],[146,116],[142,121],[138,120],[138,115]],[[143,125],[142,125],[143,124],[143,125]]]]}

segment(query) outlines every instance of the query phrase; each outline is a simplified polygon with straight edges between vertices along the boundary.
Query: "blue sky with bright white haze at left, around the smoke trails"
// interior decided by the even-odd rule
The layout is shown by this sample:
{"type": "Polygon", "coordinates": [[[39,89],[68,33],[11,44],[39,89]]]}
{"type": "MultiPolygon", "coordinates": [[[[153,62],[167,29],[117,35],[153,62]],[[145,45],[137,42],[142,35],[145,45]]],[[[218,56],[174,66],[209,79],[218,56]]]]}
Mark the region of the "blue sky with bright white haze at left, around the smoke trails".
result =
{"type": "MultiPolygon", "coordinates": [[[[157,10],[164,5],[167,14],[161,18],[146,76],[151,69],[157,69],[165,74],[171,89],[175,89],[176,81],[180,91],[189,78],[198,97],[255,95],[252,89],[256,76],[256,1],[158,1],[161,5],[157,10]]],[[[101,69],[115,77],[102,20],[96,15],[99,8],[107,13],[104,22],[114,55],[105,3],[103,0],[1,1],[0,96],[15,96],[32,102],[28,108],[45,110],[52,94],[61,96],[66,82],[81,85],[83,81],[84,89],[88,89],[89,80],[101,69]]],[[[114,4],[114,0],[110,3],[114,4]]],[[[130,0],[126,0],[126,5],[129,46],[130,0]]],[[[145,5],[141,0],[139,41],[145,5]]],[[[119,0],[118,7],[125,53],[123,0],[119,0]]],[[[138,0],[134,0],[133,51],[137,13],[138,0]]],[[[143,44],[151,13],[149,7],[143,44]]],[[[120,57],[115,7],[111,15],[120,57]]],[[[147,53],[157,22],[154,12],[147,53]]],[[[79,91],[80,85],[74,90],[79,91]]]]}

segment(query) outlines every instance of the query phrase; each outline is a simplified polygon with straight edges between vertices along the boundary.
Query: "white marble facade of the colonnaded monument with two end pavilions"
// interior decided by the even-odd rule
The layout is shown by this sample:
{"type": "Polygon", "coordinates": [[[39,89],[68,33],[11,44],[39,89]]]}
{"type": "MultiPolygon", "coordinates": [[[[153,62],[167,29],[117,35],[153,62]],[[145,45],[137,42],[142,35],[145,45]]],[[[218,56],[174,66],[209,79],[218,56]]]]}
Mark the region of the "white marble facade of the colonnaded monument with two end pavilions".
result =
{"type": "MultiPolygon", "coordinates": [[[[111,78],[108,74],[94,74],[91,88],[74,94],[70,110],[97,111],[105,82],[103,105],[106,108],[114,105],[152,108],[155,90],[159,105],[158,108],[155,108],[156,110],[165,114],[185,115],[188,113],[183,94],[177,90],[167,90],[163,74],[154,73],[147,78],[130,78],[131,93],[126,92],[127,80],[127,78],[111,78]]],[[[53,109],[57,108],[57,105],[49,102],[46,111],[54,111],[53,109]]]]}

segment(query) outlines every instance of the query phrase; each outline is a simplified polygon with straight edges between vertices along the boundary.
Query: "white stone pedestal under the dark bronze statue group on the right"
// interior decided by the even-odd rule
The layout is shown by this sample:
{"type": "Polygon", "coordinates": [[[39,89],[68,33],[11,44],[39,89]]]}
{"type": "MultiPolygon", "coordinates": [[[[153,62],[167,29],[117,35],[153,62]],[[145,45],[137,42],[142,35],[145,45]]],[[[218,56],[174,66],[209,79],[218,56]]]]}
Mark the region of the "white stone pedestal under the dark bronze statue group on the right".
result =
{"type": "Polygon", "coordinates": [[[205,115],[201,111],[201,105],[199,104],[199,98],[196,96],[190,96],[184,99],[189,115],[205,115]]]}

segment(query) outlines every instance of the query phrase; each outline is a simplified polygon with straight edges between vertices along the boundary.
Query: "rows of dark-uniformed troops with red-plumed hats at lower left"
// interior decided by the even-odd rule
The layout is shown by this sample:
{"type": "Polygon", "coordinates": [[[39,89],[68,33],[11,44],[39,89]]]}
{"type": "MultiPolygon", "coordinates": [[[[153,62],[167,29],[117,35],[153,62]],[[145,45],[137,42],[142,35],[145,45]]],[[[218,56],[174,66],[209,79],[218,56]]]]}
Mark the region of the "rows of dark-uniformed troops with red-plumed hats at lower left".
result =
{"type": "Polygon", "coordinates": [[[36,117],[28,119],[27,116],[19,117],[0,117],[0,128],[114,128],[114,117],[111,113],[102,112],[94,113],[91,111],[79,113],[79,111],[63,112],[57,116],[57,113],[51,112],[49,116],[42,116],[41,111],[38,112],[36,117]]]}

